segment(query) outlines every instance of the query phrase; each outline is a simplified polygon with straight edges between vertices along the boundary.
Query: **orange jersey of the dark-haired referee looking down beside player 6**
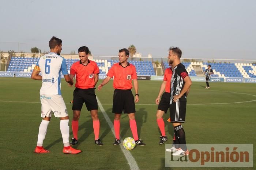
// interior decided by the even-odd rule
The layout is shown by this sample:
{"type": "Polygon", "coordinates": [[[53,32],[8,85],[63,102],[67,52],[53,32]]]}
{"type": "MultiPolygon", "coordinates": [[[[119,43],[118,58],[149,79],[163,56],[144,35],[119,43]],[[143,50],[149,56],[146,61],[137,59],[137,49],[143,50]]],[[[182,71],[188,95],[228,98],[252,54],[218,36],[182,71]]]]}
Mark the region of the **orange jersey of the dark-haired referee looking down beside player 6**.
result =
{"type": "Polygon", "coordinates": [[[76,75],[75,87],[82,89],[94,88],[94,74],[99,74],[99,67],[94,61],[88,60],[88,63],[83,65],[79,60],[71,66],[70,74],[76,75]]]}

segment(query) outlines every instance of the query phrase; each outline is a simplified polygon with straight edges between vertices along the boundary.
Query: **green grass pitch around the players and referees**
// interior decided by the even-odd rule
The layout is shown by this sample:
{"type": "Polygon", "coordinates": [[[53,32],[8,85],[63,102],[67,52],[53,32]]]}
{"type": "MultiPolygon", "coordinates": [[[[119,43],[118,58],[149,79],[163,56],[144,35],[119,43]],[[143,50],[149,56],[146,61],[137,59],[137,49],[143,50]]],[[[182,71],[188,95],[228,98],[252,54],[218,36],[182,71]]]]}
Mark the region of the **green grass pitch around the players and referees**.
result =
{"type": "MultiPolygon", "coordinates": [[[[140,101],[136,104],[135,116],[139,137],[146,146],[136,146],[130,153],[139,169],[184,169],[165,168],[165,145],[158,145],[160,132],[155,117],[157,105],[154,103],[161,83],[161,81],[139,81],[140,101]]],[[[193,82],[188,96],[186,123],[183,124],[187,143],[253,143],[255,145],[256,84],[210,83],[211,88],[207,90],[204,89],[205,85],[205,82],[193,82]],[[251,100],[254,101],[247,102],[251,100]]],[[[81,149],[82,153],[77,155],[62,153],[60,120],[53,116],[44,140],[44,147],[51,152],[34,154],[38,127],[41,123],[40,87],[41,81],[29,78],[0,78],[0,169],[129,169],[120,147],[112,145],[114,135],[101,110],[98,111],[101,123],[99,136],[104,145],[94,144],[93,124],[85,105],[79,120],[79,144],[74,146],[81,149]]],[[[74,87],[68,87],[63,79],[61,91],[70,119],[72,119],[72,104],[69,102],[73,98],[73,90],[74,87]]],[[[113,122],[112,80],[101,91],[96,91],[96,95],[113,122]]],[[[169,114],[164,115],[164,120],[168,117],[169,114]]],[[[71,121],[69,127],[71,138],[71,121]]],[[[166,122],[165,128],[169,137],[167,143],[171,143],[172,125],[166,122]]],[[[132,137],[126,114],[121,116],[120,133],[123,139],[132,137]]],[[[255,147],[253,151],[255,156],[255,147]]],[[[255,161],[253,165],[256,166],[255,161]]]]}

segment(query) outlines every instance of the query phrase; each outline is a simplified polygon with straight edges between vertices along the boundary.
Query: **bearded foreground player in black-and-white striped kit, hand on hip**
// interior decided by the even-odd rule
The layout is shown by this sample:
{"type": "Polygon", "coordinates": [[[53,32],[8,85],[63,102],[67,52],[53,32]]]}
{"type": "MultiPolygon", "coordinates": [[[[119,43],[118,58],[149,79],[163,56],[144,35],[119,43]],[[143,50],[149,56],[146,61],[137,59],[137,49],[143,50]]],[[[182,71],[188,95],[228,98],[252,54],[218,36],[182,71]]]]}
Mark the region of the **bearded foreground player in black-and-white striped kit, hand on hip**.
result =
{"type": "Polygon", "coordinates": [[[181,123],[185,122],[187,93],[192,84],[188,72],[183,64],[180,63],[181,50],[178,47],[169,48],[169,64],[173,64],[173,74],[170,90],[170,118],[174,126],[176,145],[173,155],[188,155],[185,139],[185,131],[181,123]]]}

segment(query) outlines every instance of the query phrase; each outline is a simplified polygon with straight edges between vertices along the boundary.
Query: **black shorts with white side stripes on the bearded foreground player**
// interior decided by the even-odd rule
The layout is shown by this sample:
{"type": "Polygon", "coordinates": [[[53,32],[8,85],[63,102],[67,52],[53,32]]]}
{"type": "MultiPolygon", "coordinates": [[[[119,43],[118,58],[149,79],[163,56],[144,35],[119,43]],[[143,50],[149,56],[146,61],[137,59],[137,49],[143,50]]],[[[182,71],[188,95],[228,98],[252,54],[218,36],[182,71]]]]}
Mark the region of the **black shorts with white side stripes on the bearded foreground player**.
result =
{"type": "Polygon", "coordinates": [[[180,99],[170,104],[170,118],[172,123],[184,123],[186,117],[187,101],[181,101],[180,99]]]}

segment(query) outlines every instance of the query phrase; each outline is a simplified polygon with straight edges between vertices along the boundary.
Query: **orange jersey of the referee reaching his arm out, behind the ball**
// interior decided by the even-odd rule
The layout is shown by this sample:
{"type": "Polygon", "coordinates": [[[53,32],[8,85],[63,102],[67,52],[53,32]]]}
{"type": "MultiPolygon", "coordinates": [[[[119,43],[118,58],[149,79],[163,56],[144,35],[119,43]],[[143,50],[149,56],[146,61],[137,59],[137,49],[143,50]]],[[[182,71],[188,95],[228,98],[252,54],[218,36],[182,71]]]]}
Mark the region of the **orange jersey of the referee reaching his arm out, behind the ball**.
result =
{"type": "Polygon", "coordinates": [[[115,89],[128,90],[132,88],[132,80],[137,79],[136,68],[128,63],[123,67],[121,63],[114,64],[108,71],[107,76],[113,77],[113,87],[115,89]]]}

